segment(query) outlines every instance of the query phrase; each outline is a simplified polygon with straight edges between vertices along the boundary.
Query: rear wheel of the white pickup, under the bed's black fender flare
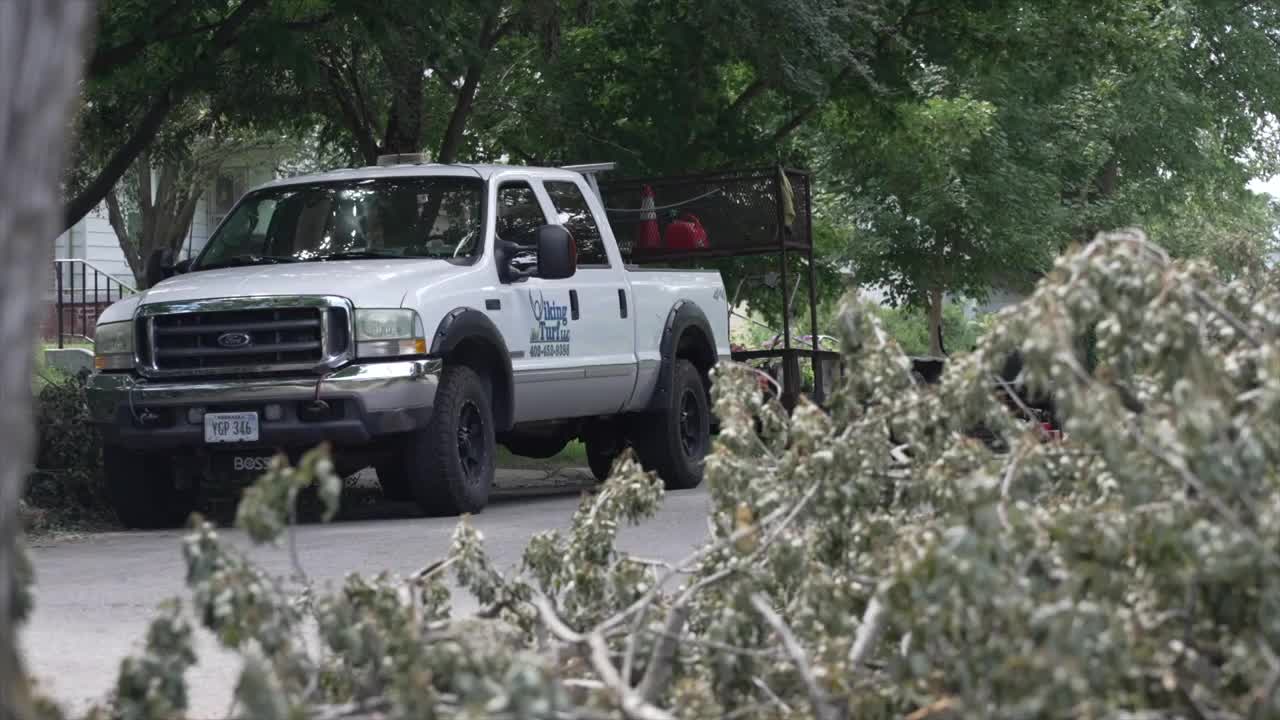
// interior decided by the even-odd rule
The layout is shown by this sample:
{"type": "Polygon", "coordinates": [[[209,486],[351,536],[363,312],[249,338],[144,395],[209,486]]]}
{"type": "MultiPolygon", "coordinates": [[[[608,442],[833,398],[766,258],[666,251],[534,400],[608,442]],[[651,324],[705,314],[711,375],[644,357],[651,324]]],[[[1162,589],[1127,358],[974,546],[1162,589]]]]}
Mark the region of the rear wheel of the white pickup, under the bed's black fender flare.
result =
{"type": "Polygon", "coordinates": [[[710,405],[701,374],[677,360],[671,405],[637,423],[634,442],[640,464],[658,473],[667,489],[695,488],[710,450],[710,405]]]}

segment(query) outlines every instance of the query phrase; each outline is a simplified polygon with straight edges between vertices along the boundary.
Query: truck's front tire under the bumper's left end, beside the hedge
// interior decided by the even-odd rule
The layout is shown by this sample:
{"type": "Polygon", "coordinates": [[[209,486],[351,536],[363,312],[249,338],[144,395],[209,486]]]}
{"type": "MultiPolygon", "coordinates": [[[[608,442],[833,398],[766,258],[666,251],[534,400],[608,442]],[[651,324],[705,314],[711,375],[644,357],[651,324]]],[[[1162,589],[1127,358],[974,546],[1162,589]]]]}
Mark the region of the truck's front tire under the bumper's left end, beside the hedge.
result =
{"type": "Polygon", "coordinates": [[[111,509],[125,528],[175,528],[195,509],[193,493],[178,491],[169,457],[108,445],[102,447],[102,469],[111,509]]]}

